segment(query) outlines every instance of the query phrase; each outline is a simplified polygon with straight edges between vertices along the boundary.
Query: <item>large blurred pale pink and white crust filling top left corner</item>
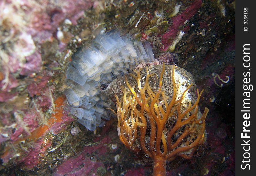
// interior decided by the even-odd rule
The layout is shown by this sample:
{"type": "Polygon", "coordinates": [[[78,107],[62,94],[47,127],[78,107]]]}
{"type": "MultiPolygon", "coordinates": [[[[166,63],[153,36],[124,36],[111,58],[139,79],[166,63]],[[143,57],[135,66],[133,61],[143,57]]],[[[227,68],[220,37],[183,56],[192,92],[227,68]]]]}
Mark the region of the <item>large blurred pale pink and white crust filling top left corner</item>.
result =
{"type": "Polygon", "coordinates": [[[1,52],[4,61],[1,64],[6,67],[6,72],[26,76],[38,73],[42,69],[40,45],[56,38],[57,27],[65,19],[76,25],[84,10],[92,5],[93,2],[88,0],[42,1],[40,4],[19,1],[15,6],[12,1],[1,1],[0,25],[9,31],[9,35],[1,36],[2,45],[10,47],[1,52]]]}

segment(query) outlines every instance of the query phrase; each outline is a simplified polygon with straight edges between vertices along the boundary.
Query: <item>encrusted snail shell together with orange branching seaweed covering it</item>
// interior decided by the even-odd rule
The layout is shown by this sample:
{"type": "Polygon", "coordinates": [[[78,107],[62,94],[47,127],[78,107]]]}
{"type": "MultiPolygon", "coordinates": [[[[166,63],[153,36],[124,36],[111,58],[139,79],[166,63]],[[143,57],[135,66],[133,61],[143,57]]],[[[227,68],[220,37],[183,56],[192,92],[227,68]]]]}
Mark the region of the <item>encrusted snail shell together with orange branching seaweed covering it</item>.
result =
{"type": "Polygon", "coordinates": [[[203,90],[196,89],[189,72],[171,65],[163,64],[162,70],[160,67],[133,70],[124,79],[114,80],[106,90],[116,98],[120,140],[129,150],[142,151],[152,158],[153,175],[165,175],[167,161],[192,158],[205,142],[209,111],[205,108],[201,114],[198,103],[203,90]],[[126,84],[128,89],[120,86],[120,93],[115,89],[117,83],[126,84]]]}

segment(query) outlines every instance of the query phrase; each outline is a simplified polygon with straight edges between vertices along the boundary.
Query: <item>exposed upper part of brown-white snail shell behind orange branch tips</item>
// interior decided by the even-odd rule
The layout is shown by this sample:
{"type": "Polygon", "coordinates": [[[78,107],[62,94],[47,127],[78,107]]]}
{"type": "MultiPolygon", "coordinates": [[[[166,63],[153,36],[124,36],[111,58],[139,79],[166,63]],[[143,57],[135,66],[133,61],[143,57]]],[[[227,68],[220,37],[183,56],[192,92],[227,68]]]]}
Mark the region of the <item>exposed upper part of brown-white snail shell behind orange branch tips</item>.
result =
{"type": "MultiPolygon", "coordinates": [[[[152,66],[147,66],[148,67],[148,73],[149,74],[155,74],[151,78],[149,78],[149,86],[151,87],[153,92],[157,92],[159,89],[159,79],[160,79],[160,73],[162,71],[162,65],[152,65],[152,66]]],[[[165,71],[163,74],[162,78],[162,91],[165,92],[166,96],[171,98],[173,95],[173,85],[172,85],[172,65],[165,65],[165,71]]],[[[131,74],[136,75],[134,71],[131,72],[131,74]]],[[[146,67],[142,68],[141,70],[141,77],[142,77],[142,84],[141,86],[144,86],[144,81],[146,78],[146,67]]],[[[185,69],[180,68],[175,66],[175,71],[174,71],[174,79],[176,84],[179,85],[179,89],[177,89],[177,96],[175,100],[178,100],[183,93],[183,91],[190,85],[192,84],[189,93],[186,95],[186,102],[184,101],[184,104],[188,104],[189,101],[191,101],[192,104],[195,103],[197,96],[195,95],[196,93],[196,84],[193,79],[193,76],[191,73],[187,72],[185,69]]],[[[133,79],[132,76],[127,75],[127,80],[131,87],[134,88],[135,92],[139,92],[137,89],[137,80],[133,79]]],[[[123,91],[122,87],[125,86],[125,88],[128,89],[126,83],[125,83],[125,78],[120,77],[118,79],[114,79],[108,86],[108,88],[102,93],[109,97],[112,98],[113,102],[116,102],[115,99],[115,94],[117,94],[117,97],[121,99],[123,96],[123,91]]]]}

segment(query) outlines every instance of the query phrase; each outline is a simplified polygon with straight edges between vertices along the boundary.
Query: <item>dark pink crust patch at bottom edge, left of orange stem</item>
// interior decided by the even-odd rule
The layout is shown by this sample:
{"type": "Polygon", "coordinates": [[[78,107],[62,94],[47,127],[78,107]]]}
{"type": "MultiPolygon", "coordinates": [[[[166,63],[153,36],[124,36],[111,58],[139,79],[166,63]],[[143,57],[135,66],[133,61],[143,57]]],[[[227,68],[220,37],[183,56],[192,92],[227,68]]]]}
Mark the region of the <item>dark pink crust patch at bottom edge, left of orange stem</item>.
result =
{"type": "MultiPolygon", "coordinates": [[[[102,128],[102,136],[94,139],[94,143],[98,144],[86,146],[82,148],[78,155],[64,160],[60,165],[57,166],[56,170],[53,171],[55,173],[54,176],[100,175],[98,173],[99,170],[106,170],[103,163],[105,158],[107,158],[106,156],[111,153],[111,151],[109,151],[109,144],[111,144],[113,139],[113,136],[109,136],[109,130],[109,126],[104,126],[102,128]],[[93,155],[97,157],[91,157],[93,155]]],[[[116,136],[114,131],[111,132],[113,132],[111,133],[112,135],[116,136]]],[[[108,158],[108,160],[110,160],[110,158],[108,158]]]]}

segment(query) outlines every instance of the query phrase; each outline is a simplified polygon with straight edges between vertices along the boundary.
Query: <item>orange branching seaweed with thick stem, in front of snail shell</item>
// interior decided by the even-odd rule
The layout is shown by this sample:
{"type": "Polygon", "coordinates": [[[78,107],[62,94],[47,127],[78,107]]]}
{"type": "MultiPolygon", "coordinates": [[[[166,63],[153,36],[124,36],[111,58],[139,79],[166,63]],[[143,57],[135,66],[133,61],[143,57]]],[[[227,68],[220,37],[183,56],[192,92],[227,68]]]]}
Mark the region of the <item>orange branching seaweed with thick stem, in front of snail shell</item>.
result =
{"type": "Polygon", "coordinates": [[[117,131],[124,145],[135,152],[143,151],[154,161],[153,175],[165,175],[166,161],[174,160],[177,156],[190,159],[198,145],[204,141],[205,118],[208,109],[205,108],[200,118],[198,114],[198,102],[203,90],[199,93],[197,89],[197,100],[195,104],[189,102],[187,109],[182,109],[182,100],[187,94],[190,84],[178,100],[178,85],[174,81],[174,66],[172,67],[173,95],[170,102],[162,91],[163,65],[160,74],[159,89],[153,92],[149,86],[149,74],[141,86],[141,69],[134,70],[137,75],[130,74],[137,80],[139,93],[134,91],[125,77],[129,91],[123,87],[123,96],[119,101],[117,95],[117,131]],[[166,124],[169,118],[174,119],[172,128],[166,124]],[[148,137],[147,137],[148,136],[148,137]]]}

